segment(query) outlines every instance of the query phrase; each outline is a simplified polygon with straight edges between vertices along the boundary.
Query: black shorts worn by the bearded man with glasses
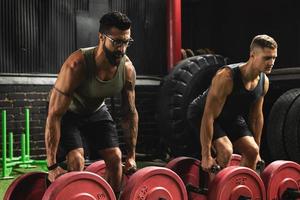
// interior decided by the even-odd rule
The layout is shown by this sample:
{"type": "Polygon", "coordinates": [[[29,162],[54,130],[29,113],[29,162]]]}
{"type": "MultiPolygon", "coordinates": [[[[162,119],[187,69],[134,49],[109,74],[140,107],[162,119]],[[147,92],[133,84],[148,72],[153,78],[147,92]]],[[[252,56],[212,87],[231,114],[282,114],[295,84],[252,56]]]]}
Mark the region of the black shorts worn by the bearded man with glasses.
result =
{"type": "Polygon", "coordinates": [[[62,162],[71,150],[84,148],[85,157],[97,159],[99,150],[118,146],[116,124],[105,105],[90,115],[67,111],[61,120],[56,158],[62,162]]]}

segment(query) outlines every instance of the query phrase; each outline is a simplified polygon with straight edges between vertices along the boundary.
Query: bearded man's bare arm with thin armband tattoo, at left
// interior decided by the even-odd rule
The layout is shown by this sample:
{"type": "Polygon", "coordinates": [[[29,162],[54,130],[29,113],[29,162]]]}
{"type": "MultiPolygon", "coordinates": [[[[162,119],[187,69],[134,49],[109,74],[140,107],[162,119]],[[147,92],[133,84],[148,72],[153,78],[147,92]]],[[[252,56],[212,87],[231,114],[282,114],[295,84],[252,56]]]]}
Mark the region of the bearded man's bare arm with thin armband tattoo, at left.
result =
{"type": "Polygon", "coordinates": [[[79,51],[70,55],[63,64],[51,92],[45,128],[48,166],[56,163],[61,118],[71,103],[73,91],[78,87],[79,82],[83,78],[83,62],[83,55],[79,51]]]}

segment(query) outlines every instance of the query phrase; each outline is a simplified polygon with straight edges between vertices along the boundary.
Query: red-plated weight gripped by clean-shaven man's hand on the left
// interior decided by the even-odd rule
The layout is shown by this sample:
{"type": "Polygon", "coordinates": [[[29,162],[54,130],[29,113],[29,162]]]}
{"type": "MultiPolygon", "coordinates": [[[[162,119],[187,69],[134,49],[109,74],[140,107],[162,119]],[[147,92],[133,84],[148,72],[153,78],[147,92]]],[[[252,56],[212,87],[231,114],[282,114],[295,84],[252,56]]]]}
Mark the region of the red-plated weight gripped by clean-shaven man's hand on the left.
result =
{"type": "MultiPolygon", "coordinates": [[[[233,156],[231,161],[229,165],[238,165],[240,156],[233,156]]],[[[262,180],[246,167],[229,166],[218,172],[212,182],[209,181],[210,174],[203,172],[200,161],[194,158],[175,158],[166,167],[181,177],[190,200],[265,199],[262,180]]]]}

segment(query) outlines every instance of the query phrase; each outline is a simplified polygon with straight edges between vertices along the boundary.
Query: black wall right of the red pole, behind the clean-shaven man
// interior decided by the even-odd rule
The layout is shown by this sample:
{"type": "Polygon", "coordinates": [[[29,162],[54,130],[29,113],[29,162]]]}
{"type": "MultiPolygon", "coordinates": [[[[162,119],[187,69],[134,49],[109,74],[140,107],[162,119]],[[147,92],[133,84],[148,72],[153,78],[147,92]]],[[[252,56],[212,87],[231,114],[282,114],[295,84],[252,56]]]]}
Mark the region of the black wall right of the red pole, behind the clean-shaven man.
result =
{"type": "Polygon", "coordinates": [[[300,66],[299,1],[183,0],[183,47],[210,48],[231,62],[248,59],[257,34],[269,34],[279,44],[275,68],[300,66]]]}

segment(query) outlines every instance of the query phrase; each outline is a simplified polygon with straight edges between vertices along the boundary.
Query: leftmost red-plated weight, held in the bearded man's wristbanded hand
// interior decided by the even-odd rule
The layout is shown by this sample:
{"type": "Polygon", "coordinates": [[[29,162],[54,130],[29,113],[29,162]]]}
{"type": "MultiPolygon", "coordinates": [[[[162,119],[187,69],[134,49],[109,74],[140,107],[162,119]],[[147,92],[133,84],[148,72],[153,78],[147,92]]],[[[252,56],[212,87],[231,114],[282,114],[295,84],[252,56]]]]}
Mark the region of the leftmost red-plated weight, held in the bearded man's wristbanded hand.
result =
{"type": "Polygon", "coordinates": [[[7,189],[4,200],[116,200],[110,185],[95,173],[69,172],[48,188],[46,178],[45,172],[30,172],[18,177],[7,189]]]}

